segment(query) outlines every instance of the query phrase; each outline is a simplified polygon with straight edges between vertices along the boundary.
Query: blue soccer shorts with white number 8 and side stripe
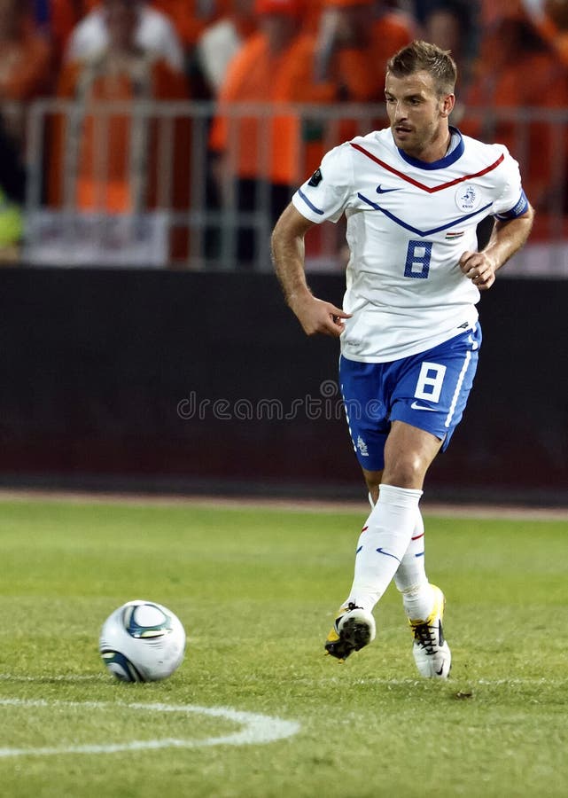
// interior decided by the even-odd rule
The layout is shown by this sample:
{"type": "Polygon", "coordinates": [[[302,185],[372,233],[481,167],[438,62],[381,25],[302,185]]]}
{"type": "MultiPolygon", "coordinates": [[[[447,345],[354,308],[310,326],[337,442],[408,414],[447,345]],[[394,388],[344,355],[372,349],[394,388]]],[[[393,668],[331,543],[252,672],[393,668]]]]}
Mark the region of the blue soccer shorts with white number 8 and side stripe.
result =
{"type": "Polygon", "coordinates": [[[360,465],[385,467],[385,441],[392,421],[432,433],[442,450],[463,416],[481,346],[475,325],[437,347],[391,363],[339,358],[339,384],[349,433],[360,465]]]}

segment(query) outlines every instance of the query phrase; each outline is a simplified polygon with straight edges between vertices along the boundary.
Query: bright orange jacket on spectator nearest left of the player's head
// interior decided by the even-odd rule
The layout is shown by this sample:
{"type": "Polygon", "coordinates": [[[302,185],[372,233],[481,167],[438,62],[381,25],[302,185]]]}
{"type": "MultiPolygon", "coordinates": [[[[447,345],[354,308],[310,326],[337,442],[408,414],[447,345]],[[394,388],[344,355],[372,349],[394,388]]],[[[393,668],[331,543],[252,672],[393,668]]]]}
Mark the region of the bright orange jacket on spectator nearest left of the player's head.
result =
{"type": "Polygon", "coordinates": [[[232,174],[244,179],[266,178],[275,184],[296,184],[305,174],[301,153],[300,119],[278,113],[277,104],[331,102],[333,88],[313,83],[315,39],[297,35],[278,55],[268,39],[253,35],[230,63],[215,117],[210,145],[226,153],[232,174]],[[231,103],[276,104],[268,119],[235,118],[223,113],[231,103]],[[272,118],[273,114],[275,115],[272,118]]]}

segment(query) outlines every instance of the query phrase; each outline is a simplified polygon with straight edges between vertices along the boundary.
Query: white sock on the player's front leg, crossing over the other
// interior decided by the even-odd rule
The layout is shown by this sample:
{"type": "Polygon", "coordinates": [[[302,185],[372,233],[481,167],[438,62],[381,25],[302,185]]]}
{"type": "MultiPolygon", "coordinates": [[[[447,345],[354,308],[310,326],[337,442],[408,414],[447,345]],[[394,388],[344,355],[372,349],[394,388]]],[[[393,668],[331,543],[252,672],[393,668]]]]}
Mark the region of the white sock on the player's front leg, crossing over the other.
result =
{"type": "Polygon", "coordinates": [[[381,485],[357,544],[351,602],[372,610],[393,579],[416,526],[422,490],[381,485]]]}

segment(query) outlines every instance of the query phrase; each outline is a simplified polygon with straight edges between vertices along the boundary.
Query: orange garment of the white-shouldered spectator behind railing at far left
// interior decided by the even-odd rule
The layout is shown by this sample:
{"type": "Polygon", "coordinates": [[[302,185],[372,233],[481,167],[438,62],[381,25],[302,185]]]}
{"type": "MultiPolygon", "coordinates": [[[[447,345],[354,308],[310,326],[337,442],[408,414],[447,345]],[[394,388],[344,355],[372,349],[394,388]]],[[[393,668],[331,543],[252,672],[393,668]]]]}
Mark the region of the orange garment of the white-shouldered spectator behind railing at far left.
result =
{"type": "MultiPolygon", "coordinates": [[[[71,63],[62,71],[58,97],[81,99],[84,113],[76,129],[66,128],[65,121],[56,120],[51,203],[60,205],[64,200],[71,200],[82,210],[108,213],[128,213],[155,206],[160,126],[152,119],[144,121],[128,111],[111,111],[108,116],[99,109],[89,113],[89,106],[97,101],[116,100],[129,104],[144,98],[184,99],[188,97],[188,90],[183,75],[175,74],[165,61],[147,56],[129,65],[124,59],[120,65],[108,67],[102,60],[71,63]],[[64,178],[75,170],[74,194],[71,198],[65,197],[64,178]]],[[[182,176],[179,136],[172,144],[170,157],[180,159],[173,175],[182,176]]],[[[188,145],[185,131],[183,147],[188,145]]],[[[185,162],[189,162],[189,149],[185,162]]],[[[188,183],[187,172],[185,183],[188,183]]]]}

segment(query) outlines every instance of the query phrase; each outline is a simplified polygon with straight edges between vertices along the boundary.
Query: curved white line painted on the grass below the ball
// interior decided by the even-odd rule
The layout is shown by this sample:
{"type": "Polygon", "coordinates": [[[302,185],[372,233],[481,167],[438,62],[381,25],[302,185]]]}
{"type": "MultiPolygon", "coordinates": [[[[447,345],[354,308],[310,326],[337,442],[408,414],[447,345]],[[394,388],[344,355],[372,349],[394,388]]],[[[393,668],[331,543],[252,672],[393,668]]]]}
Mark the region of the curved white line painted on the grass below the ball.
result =
{"type": "MultiPolygon", "coordinates": [[[[136,709],[143,712],[181,712],[185,715],[206,715],[220,717],[242,728],[237,732],[219,737],[205,739],[160,738],[132,739],[122,743],[106,745],[58,746],[58,747],[4,747],[0,748],[0,758],[9,756],[51,756],[67,754],[116,754],[122,751],[145,751],[157,748],[201,748],[212,746],[251,746],[275,742],[278,739],[292,737],[300,732],[300,724],[296,721],[285,721],[278,717],[257,715],[253,712],[239,712],[229,707],[198,707],[194,704],[161,704],[161,703],[123,703],[113,701],[61,701],[61,700],[27,700],[0,699],[0,708],[23,707],[37,708],[84,708],[136,709]]],[[[4,729],[6,726],[4,725],[4,729]]]]}

